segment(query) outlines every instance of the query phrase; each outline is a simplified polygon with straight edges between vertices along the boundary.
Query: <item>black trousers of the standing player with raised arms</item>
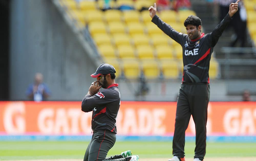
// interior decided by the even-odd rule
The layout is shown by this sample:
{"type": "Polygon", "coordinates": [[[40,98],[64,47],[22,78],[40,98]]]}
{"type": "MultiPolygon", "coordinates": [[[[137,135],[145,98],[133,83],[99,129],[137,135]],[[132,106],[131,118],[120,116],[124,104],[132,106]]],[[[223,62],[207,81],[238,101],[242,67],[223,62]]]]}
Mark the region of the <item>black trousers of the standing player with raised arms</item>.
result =
{"type": "Polygon", "coordinates": [[[192,115],[196,127],[196,147],[194,158],[199,158],[200,160],[204,159],[206,152],[206,122],[209,98],[209,84],[183,83],[180,86],[173,136],[174,156],[180,158],[185,156],[185,131],[192,115]]]}

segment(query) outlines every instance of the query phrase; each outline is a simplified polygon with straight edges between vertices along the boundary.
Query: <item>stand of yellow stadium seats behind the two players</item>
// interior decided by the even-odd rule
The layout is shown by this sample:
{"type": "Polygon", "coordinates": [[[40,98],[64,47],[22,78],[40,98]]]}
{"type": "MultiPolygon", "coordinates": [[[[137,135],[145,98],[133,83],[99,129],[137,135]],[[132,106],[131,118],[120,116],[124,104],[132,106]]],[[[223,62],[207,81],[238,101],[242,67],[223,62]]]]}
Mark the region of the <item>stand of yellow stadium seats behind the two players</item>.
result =
{"type": "MultiPolygon", "coordinates": [[[[157,79],[162,74],[164,78],[176,79],[182,74],[182,47],[151,22],[147,9],[155,1],[110,1],[107,9],[104,0],[60,1],[80,26],[88,27],[103,60],[115,64],[121,73],[119,76],[135,79],[143,74],[147,79],[157,79]]],[[[250,10],[255,14],[251,6],[250,10]]],[[[163,10],[157,15],[175,30],[186,33],[183,22],[196,13],[193,10],[163,10]]],[[[252,17],[255,16],[248,16],[248,19],[254,20],[252,17]]],[[[254,28],[250,32],[256,33],[254,28]]],[[[211,64],[209,73],[211,78],[216,78],[218,63],[212,61],[211,64]]]]}

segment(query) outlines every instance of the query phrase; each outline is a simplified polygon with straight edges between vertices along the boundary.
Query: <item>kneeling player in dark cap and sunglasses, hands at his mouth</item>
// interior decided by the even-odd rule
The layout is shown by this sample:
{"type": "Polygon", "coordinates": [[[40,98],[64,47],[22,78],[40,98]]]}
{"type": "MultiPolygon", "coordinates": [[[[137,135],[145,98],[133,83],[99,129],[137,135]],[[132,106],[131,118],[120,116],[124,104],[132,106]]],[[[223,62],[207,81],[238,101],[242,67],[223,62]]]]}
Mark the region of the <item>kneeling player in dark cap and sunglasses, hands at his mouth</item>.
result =
{"type": "Polygon", "coordinates": [[[116,141],[116,117],[121,103],[118,84],[115,83],[115,73],[112,65],[101,64],[91,75],[97,80],[92,82],[87,95],[82,100],[82,111],[93,111],[93,134],[84,154],[84,161],[138,161],[139,159],[137,155],[132,155],[130,150],[106,158],[116,141]],[[100,91],[101,87],[104,89],[100,91]]]}

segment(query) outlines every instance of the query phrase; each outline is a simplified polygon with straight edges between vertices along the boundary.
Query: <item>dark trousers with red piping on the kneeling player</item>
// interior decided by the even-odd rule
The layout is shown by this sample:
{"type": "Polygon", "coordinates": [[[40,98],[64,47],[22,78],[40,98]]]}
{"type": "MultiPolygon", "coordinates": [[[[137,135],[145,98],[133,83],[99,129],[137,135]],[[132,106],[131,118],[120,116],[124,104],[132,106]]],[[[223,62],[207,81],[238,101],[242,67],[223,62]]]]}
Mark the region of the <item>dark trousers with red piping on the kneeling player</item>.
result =
{"type": "Polygon", "coordinates": [[[93,132],[92,140],[89,143],[86,152],[84,154],[83,161],[128,161],[131,157],[123,158],[120,155],[115,155],[106,158],[109,150],[114,146],[116,141],[116,135],[107,131],[93,132]]]}

